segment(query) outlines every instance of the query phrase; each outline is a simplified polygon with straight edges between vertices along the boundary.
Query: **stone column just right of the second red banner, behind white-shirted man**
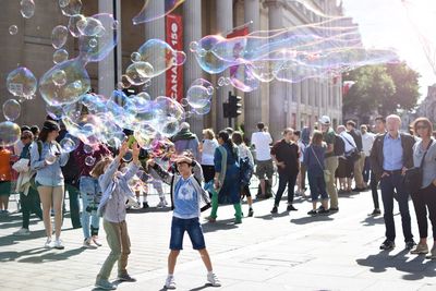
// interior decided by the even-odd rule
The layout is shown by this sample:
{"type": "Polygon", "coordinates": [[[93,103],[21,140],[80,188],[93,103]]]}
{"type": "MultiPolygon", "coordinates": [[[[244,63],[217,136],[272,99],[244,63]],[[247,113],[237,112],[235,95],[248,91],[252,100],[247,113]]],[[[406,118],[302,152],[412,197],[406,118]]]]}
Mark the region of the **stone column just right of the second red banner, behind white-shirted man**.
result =
{"type": "MultiPolygon", "coordinates": [[[[261,29],[261,1],[244,0],[244,21],[253,22],[250,25],[250,33],[261,29]]],[[[250,48],[249,48],[250,49],[250,48]]],[[[262,120],[262,100],[261,87],[251,93],[244,94],[244,112],[245,112],[245,135],[251,136],[256,131],[256,124],[262,120]]]]}

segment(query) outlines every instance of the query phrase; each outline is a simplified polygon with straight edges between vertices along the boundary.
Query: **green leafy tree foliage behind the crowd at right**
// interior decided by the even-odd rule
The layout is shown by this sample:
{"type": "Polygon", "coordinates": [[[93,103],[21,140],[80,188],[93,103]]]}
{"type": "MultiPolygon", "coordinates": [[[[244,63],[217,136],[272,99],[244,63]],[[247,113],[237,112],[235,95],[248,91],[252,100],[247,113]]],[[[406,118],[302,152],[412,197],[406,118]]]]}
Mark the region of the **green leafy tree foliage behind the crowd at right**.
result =
{"type": "Polygon", "coordinates": [[[354,85],[343,96],[344,116],[368,122],[375,114],[387,116],[416,106],[420,74],[405,63],[367,65],[343,74],[354,85]]]}

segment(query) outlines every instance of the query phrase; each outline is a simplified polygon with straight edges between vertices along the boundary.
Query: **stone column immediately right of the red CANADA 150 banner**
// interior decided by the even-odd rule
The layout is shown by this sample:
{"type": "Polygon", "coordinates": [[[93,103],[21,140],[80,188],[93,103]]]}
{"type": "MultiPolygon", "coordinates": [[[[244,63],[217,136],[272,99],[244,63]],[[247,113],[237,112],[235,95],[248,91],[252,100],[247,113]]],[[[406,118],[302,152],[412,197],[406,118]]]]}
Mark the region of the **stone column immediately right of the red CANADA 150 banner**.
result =
{"type": "MultiPolygon", "coordinates": [[[[202,0],[186,0],[183,4],[183,47],[187,57],[183,65],[183,87],[186,93],[192,82],[203,77],[202,68],[199,68],[194,54],[190,51],[191,41],[198,41],[202,38],[202,0]]],[[[189,119],[189,122],[191,131],[201,138],[204,126],[203,116],[195,114],[189,119]]]]}

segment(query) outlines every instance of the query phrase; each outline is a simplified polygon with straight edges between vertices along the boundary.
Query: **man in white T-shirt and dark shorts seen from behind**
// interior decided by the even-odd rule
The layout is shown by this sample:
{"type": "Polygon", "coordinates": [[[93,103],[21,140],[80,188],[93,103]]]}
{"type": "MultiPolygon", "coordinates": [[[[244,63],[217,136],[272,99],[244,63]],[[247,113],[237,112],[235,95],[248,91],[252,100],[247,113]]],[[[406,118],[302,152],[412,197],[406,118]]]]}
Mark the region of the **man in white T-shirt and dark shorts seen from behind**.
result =
{"type": "Polygon", "coordinates": [[[261,180],[261,196],[257,198],[269,198],[266,195],[265,175],[269,183],[272,179],[274,166],[269,146],[272,144],[272,137],[269,132],[264,131],[265,124],[257,123],[258,132],[252,134],[251,144],[256,150],[256,175],[261,180]]]}

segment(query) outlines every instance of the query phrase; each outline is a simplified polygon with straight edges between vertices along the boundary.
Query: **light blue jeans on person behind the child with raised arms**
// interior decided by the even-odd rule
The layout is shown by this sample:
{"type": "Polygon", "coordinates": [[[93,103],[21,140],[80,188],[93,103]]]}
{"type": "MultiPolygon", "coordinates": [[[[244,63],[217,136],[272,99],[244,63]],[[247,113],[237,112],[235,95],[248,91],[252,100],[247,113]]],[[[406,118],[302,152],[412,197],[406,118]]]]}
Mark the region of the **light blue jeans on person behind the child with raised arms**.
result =
{"type": "Polygon", "coordinates": [[[98,234],[100,217],[97,215],[97,207],[101,198],[101,190],[98,180],[92,177],[81,177],[80,183],[83,211],[82,211],[82,229],[85,239],[98,234]],[[89,219],[90,231],[89,231],[89,219]]]}

